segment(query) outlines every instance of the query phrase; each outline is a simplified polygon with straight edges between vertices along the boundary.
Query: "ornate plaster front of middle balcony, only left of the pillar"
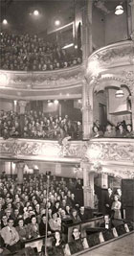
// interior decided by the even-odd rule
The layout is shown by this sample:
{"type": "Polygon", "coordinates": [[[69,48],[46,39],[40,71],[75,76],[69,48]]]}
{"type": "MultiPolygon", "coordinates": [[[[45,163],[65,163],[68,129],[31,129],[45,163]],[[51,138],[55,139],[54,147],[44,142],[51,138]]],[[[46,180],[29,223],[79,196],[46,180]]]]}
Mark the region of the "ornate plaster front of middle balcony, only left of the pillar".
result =
{"type": "Polygon", "coordinates": [[[83,142],[63,141],[59,144],[57,141],[48,140],[26,140],[26,139],[0,139],[0,155],[2,158],[13,157],[16,159],[38,159],[54,158],[58,161],[65,158],[81,159],[86,147],[83,142]]]}

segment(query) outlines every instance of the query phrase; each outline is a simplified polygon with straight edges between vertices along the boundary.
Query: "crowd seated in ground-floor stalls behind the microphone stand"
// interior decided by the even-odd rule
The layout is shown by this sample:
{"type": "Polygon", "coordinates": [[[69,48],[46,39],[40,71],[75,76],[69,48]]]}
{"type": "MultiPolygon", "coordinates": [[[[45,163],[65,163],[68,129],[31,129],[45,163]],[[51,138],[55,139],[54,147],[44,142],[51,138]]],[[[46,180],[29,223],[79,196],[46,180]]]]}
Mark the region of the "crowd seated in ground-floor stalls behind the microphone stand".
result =
{"type": "MultiPolygon", "coordinates": [[[[74,190],[82,190],[79,180],[51,176],[47,198],[47,176],[25,175],[23,184],[3,173],[0,177],[0,235],[5,247],[14,252],[27,240],[61,232],[62,221],[88,220],[83,206],[78,205],[74,190]]],[[[80,180],[81,181],[81,180],[80,180]]]]}

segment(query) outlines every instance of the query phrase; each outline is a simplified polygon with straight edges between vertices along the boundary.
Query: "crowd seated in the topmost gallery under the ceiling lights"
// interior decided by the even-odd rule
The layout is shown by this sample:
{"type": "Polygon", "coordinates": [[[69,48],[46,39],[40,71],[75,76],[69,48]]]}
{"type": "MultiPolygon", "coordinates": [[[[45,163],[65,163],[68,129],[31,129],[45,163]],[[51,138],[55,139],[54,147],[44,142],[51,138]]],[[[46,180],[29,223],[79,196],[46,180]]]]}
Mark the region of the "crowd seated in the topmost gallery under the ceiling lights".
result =
{"type": "Polygon", "coordinates": [[[0,35],[0,68],[19,71],[46,71],[75,66],[81,58],[70,56],[56,43],[37,35],[0,35]]]}

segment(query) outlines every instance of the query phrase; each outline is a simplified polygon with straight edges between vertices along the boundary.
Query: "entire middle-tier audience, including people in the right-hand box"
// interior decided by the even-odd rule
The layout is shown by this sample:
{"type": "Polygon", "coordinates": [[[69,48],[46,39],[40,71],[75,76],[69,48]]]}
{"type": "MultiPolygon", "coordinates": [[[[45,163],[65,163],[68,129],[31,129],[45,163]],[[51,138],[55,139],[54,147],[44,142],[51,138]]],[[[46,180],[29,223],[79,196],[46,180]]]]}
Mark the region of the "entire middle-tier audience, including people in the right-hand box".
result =
{"type": "MultiPolygon", "coordinates": [[[[62,143],[65,137],[72,140],[82,139],[82,124],[79,121],[71,121],[68,115],[65,117],[48,117],[42,111],[30,110],[24,115],[14,111],[0,111],[0,136],[4,139],[29,138],[29,139],[49,139],[58,140],[62,143]]],[[[91,137],[94,138],[133,138],[134,132],[130,124],[125,121],[117,124],[116,127],[107,124],[106,128],[101,127],[97,120],[93,126],[91,137]]],[[[71,184],[70,184],[71,185],[71,184]]],[[[80,184],[78,184],[80,187],[80,184]]]]}

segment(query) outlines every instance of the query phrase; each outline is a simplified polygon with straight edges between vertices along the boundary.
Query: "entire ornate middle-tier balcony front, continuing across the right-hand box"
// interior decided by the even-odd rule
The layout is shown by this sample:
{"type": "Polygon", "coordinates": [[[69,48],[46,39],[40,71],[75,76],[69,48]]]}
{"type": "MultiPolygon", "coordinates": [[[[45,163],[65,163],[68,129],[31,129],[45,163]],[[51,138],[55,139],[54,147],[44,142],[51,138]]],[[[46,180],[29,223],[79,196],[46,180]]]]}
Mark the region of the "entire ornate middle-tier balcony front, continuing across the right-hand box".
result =
{"type": "Polygon", "coordinates": [[[0,138],[0,158],[79,163],[90,173],[134,178],[134,140],[57,141],[0,138]]]}

